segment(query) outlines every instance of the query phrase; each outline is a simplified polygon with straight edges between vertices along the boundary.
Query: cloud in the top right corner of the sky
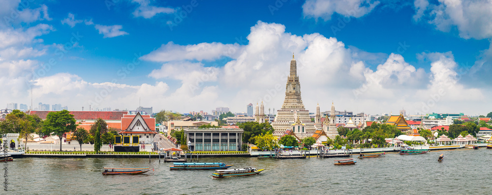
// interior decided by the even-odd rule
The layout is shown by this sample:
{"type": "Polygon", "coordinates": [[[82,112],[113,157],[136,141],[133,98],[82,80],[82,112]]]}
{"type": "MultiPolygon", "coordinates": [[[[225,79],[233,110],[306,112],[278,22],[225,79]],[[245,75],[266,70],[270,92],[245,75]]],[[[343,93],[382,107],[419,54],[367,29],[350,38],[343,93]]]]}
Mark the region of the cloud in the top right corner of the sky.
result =
{"type": "Polygon", "coordinates": [[[425,20],[436,29],[448,32],[456,27],[462,38],[492,37],[492,2],[490,0],[415,0],[414,19],[425,20]],[[431,1],[433,2],[433,1],[431,1]]]}

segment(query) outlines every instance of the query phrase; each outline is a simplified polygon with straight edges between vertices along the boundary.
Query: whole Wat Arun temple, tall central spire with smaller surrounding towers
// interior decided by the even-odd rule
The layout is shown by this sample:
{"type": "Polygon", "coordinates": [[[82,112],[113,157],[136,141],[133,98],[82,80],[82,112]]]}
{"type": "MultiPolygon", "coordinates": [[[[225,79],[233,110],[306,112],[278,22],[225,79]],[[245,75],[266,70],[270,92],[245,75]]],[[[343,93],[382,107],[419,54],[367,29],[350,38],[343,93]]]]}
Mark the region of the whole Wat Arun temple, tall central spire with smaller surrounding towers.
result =
{"type": "MultiPolygon", "coordinates": [[[[263,103],[261,107],[263,107],[263,103]]],[[[261,110],[263,110],[263,108],[261,110]]],[[[255,121],[257,122],[265,121],[262,117],[264,116],[264,113],[261,112],[261,110],[258,113],[257,106],[255,114],[255,121]]],[[[316,107],[314,122],[311,122],[309,111],[304,107],[301,98],[301,84],[299,83],[299,76],[297,75],[297,64],[294,55],[292,55],[292,60],[290,61],[290,74],[287,78],[285,87],[285,100],[283,101],[282,108],[277,111],[272,127],[274,128],[273,135],[276,137],[292,135],[297,139],[313,137],[315,139],[326,141],[326,138],[334,139],[335,136],[338,135],[337,127],[335,125],[335,107],[333,106],[333,103],[332,113],[329,118],[327,117],[323,123],[321,122],[321,114],[318,105],[316,107]]]]}

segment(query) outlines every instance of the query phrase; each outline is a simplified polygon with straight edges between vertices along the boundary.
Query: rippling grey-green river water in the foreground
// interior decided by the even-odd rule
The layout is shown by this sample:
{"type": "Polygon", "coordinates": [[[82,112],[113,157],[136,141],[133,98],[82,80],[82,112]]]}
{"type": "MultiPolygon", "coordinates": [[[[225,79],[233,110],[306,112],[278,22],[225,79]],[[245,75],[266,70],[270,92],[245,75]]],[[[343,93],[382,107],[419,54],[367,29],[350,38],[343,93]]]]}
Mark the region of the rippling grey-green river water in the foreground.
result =
{"type": "MultiPolygon", "coordinates": [[[[354,158],[357,155],[354,155],[354,158]]],[[[13,194],[491,194],[492,150],[387,153],[335,166],[335,159],[201,158],[259,175],[213,179],[211,170],[169,170],[157,159],[23,158],[9,162],[13,194]],[[437,162],[440,154],[444,161],[437,162]],[[103,167],[152,167],[141,175],[102,175],[103,167]]],[[[2,195],[3,195],[2,189],[2,195]]]]}

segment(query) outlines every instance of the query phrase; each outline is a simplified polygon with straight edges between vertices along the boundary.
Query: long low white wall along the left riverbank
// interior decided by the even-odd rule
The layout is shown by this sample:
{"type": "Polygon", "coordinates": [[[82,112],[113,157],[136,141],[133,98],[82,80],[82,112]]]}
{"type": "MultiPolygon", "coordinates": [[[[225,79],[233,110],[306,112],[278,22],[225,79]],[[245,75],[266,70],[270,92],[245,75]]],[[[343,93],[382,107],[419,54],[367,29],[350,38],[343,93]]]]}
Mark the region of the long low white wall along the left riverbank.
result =
{"type": "MultiPolygon", "coordinates": [[[[154,145],[145,144],[145,148],[140,146],[140,151],[152,152],[154,145]]],[[[24,145],[22,146],[24,148],[24,145]]],[[[27,147],[30,151],[60,151],[60,144],[53,143],[28,143],[27,147]]],[[[79,144],[62,144],[63,151],[80,151],[79,144]]],[[[82,151],[94,151],[94,144],[82,144],[82,151]]],[[[114,148],[109,148],[108,144],[103,144],[100,151],[114,151],[114,148]]]]}

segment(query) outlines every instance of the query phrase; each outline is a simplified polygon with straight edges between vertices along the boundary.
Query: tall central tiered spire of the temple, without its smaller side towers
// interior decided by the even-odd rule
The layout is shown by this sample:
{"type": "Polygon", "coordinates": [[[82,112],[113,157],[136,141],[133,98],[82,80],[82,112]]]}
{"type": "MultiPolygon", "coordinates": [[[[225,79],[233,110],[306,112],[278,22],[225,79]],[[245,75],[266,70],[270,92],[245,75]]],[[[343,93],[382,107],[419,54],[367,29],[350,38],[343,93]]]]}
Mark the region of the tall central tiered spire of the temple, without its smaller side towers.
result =
{"type": "MultiPolygon", "coordinates": [[[[304,127],[304,134],[299,134],[298,137],[303,139],[312,136],[316,127],[314,122],[311,122],[309,111],[304,108],[303,100],[301,99],[301,84],[297,75],[297,64],[294,55],[292,55],[290,75],[287,77],[285,87],[285,100],[272,123],[272,127],[275,130],[273,135],[281,137],[287,130],[292,130],[292,124],[298,120],[304,127]]],[[[298,131],[293,133],[297,135],[298,131]]]]}

